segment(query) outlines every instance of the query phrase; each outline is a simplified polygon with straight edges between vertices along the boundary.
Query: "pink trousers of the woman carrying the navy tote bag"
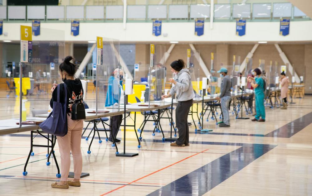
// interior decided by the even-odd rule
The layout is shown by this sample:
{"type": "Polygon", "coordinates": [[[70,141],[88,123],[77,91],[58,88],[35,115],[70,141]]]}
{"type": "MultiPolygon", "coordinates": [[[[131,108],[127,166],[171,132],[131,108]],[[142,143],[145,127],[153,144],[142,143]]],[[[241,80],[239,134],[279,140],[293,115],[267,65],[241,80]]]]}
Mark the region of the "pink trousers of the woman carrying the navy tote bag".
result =
{"type": "Polygon", "coordinates": [[[81,134],[83,120],[71,120],[67,115],[68,132],[63,137],[57,137],[61,154],[61,181],[67,181],[71,168],[71,154],[74,160],[75,179],[80,179],[82,171],[81,134]]]}

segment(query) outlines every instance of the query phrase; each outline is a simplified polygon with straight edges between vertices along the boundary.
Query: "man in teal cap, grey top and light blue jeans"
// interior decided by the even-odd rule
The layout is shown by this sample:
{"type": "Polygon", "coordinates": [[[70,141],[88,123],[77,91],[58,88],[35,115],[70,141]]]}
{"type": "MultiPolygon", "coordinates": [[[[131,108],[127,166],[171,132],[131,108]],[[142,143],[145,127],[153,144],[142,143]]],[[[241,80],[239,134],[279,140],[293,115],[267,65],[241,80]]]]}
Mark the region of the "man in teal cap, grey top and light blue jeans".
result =
{"type": "Polygon", "coordinates": [[[221,109],[223,115],[223,123],[219,124],[219,127],[230,127],[230,115],[229,115],[229,102],[231,100],[231,87],[232,81],[230,76],[227,75],[227,68],[222,67],[218,73],[222,79],[220,97],[217,97],[218,100],[221,99],[221,109]]]}

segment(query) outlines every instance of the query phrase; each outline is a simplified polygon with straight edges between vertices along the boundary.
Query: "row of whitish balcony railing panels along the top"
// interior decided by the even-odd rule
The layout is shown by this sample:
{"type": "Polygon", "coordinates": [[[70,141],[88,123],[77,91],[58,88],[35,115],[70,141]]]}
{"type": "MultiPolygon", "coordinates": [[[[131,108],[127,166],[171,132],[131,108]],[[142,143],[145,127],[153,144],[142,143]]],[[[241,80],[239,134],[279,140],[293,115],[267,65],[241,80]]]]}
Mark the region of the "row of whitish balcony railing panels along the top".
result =
{"type": "MultiPolygon", "coordinates": [[[[228,3],[214,4],[214,22],[236,19],[247,21],[310,20],[305,13],[289,2],[283,3],[228,3]]],[[[0,20],[21,22],[41,20],[64,22],[121,22],[122,5],[70,5],[70,6],[0,6],[0,20]]],[[[127,22],[185,22],[194,19],[210,19],[210,4],[128,5],[127,22]]]]}

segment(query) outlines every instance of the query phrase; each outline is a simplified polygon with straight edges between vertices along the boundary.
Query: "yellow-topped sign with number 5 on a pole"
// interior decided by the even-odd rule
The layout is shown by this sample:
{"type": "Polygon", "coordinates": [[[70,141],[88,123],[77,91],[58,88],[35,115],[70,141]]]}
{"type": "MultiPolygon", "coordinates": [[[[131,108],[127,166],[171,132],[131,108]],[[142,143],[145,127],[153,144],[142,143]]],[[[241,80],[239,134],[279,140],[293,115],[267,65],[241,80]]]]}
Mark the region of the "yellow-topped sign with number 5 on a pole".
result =
{"type": "Polygon", "coordinates": [[[32,27],[21,25],[21,62],[32,62],[32,27]]]}

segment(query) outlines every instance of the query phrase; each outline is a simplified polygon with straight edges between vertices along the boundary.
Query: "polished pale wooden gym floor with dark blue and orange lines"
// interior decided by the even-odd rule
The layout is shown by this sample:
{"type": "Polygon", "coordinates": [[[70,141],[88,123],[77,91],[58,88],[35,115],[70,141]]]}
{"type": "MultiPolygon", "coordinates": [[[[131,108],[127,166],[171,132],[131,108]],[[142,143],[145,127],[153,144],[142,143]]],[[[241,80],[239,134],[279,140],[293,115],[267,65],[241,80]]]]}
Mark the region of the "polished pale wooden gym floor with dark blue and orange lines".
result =
{"type": "MultiPolygon", "coordinates": [[[[1,119],[17,117],[18,102],[5,95],[0,93],[1,119]]],[[[49,103],[48,95],[27,99],[28,111],[47,108],[49,103]]],[[[10,195],[43,191],[45,195],[311,195],[312,97],[294,102],[288,110],[266,108],[264,123],[231,116],[230,128],[218,128],[212,120],[204,122],[204,127],[213,129],[208,133],[195,132],[192,124],[188,147],[170,147],[161,133],[152,136],[150,122],[138,149],[134,131],[127,128],[126,152],[139,153],[133,158],[116,157],[104,133],[100,133],[101,144],[95,137],[89,155],[90,140],[83,137],[83,172],[90,176],[81,179],[81,187],[68,190],[50,188],[57,180],[56,166],[53,160],[46,166],[46,148],[34,148],[28,175],[22,175],[30,145],[28,132],[0,136],[0,189],[10,195]]],[[[89,103],[92,107],[94,102],[89,103]]],[[[143,117],[137,116],[139,126],[143,117]]],[[[165,137],[170,136],[168,119],[161,122],[165,137]]],[[[88,128],[85,136],[89,132],[88,128]]],[[[123,129],[118,134],[119,151],[123,151],[122,136],[123,129]]],[[[34,141],[46,144],[42,137],[34,141]]],[[[57,144],[56,158],[60,163],[57,144]]]]}

